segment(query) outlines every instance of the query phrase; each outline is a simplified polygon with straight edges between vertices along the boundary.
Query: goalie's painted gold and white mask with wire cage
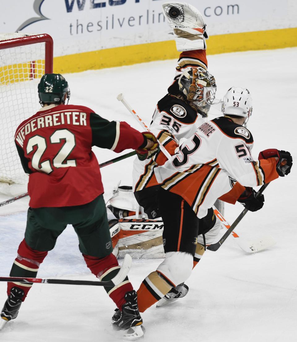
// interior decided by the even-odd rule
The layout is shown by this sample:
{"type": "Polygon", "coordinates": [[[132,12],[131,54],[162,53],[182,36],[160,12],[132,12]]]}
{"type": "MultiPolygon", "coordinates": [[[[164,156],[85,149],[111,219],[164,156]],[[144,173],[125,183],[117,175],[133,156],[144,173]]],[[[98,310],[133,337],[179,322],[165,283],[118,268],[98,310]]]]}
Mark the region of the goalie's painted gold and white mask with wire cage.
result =
{"type": "Polygon", "coordinates": [[[179,78],[179,89],[198,107],[208,107],[213,103],[216,93],[214,77],[205,69],[190,68],[179,78]]]}

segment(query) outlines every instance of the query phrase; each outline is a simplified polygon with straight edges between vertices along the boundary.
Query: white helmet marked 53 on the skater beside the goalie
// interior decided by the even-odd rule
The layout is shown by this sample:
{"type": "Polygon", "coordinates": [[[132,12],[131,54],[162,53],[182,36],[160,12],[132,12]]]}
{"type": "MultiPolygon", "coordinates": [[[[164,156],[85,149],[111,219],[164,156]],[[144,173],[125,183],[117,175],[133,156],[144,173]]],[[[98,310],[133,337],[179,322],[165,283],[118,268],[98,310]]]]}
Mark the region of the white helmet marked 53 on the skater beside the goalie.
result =
{"type": "Polygon", "coordinates": [[[223,115],[241,116],[246,118],[246,124],[252,115],[252,98],[250,92],[246,88],[231,87],[223,98],[222,112],[223,115]]]}

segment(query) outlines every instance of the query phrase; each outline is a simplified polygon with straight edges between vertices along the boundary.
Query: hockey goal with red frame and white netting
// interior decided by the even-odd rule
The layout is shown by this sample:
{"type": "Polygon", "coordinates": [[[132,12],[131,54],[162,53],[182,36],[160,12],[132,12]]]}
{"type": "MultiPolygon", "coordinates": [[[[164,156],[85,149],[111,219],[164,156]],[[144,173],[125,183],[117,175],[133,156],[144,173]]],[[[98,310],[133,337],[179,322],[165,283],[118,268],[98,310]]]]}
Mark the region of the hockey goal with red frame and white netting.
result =
{"type": "Polygon", "coordinates": [[[0,34],[0,193],[27,191],[14,143],[18,125],[40,108],[37,86],[53,72],[53,40],[47,34],[0,34]]]}

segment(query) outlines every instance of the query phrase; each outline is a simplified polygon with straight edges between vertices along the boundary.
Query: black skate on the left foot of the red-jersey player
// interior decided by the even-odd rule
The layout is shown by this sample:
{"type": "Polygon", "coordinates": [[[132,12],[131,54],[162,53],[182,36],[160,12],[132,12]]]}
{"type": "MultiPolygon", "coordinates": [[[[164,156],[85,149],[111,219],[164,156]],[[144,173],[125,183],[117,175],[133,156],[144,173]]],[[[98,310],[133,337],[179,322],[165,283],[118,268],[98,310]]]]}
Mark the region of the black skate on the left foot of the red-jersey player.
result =
{"type": "Polygon", "coordinates": [[[0,330],[8,321],[16,318],[20,305],[22,304],[23,296],[24,291],[18,287],[13,287],[11,289],[11,293],[8,296],[1,312],[0,330]]]}

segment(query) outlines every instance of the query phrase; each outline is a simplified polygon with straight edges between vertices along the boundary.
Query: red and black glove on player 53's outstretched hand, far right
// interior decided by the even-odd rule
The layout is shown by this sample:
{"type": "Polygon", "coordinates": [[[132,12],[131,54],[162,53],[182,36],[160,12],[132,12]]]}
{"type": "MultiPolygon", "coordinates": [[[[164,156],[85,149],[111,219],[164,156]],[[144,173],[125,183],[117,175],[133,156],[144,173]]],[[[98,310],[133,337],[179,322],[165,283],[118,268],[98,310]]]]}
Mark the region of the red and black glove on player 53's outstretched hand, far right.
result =
{"type": "Polygon", "coordinates": [[[289,174],[293,165],[293,159],[291,153],[283,150],[277,150],[276,148],[269,148],[259,153],[258,159],[278,158],[277,160],[277,172],[281,177],[289,174]]]}

